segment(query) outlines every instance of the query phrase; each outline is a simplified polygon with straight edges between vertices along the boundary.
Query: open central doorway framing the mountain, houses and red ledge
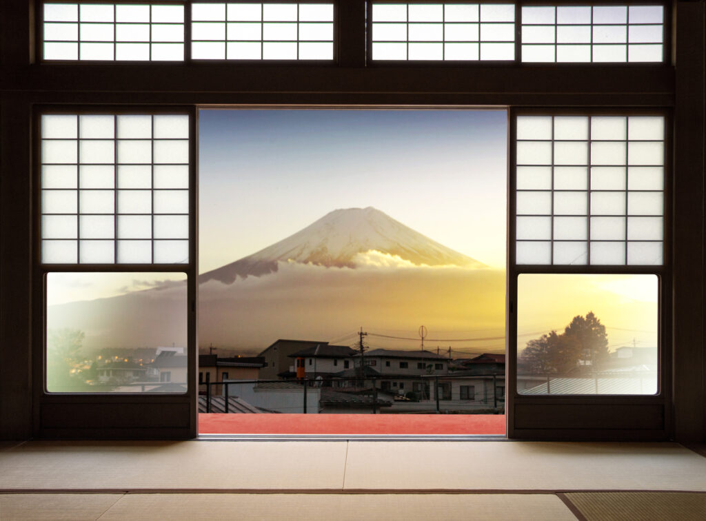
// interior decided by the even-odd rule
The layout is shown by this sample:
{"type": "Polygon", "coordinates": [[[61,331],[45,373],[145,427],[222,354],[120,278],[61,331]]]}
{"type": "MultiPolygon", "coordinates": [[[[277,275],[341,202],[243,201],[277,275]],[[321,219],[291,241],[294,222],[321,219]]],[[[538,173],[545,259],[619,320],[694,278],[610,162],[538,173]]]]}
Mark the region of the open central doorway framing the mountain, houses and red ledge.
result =
{"type": "Polygon", "coordinates": [[[206,109],[199,146],[201,433],[505,432],[505,110],[206,109]]]}

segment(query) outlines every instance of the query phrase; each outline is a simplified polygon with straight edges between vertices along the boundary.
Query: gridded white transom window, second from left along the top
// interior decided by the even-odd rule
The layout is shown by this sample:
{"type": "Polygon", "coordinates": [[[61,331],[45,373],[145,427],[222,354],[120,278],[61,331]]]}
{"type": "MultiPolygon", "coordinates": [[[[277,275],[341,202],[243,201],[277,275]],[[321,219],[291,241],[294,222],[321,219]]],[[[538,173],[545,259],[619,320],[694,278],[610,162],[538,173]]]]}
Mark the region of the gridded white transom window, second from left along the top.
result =
{"type": "Polygon", "coordinates": [[[333,60],[333,4],[192,4],[198,60],[333,60]]]}

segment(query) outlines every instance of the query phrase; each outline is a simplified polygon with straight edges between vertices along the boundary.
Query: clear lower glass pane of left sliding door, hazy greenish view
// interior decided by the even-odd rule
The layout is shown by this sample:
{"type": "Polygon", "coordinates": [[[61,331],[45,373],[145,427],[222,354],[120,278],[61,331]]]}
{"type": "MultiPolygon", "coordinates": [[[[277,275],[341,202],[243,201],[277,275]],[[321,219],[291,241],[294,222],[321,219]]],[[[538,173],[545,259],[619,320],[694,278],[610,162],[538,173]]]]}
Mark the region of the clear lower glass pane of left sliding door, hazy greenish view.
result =
{"type": "MultiPolygon", "coordinates": [[[[83,241],[82,261],[111,250],[83,241]]],[[[49,273],[47,390],[186,393],[186,323],[183,273],[49,273]]]]}

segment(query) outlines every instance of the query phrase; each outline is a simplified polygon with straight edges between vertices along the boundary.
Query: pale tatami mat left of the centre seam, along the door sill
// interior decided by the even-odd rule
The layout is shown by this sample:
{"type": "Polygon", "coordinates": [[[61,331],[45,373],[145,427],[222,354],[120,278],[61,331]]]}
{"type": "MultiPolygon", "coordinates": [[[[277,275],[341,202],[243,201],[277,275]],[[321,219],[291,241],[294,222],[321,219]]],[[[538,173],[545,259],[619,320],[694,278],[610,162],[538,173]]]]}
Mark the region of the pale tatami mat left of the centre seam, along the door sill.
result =
{"type": "Polygon", "coordinates": [[[345,442],[29,442],[1,489],[341,489],[345,442]]]}

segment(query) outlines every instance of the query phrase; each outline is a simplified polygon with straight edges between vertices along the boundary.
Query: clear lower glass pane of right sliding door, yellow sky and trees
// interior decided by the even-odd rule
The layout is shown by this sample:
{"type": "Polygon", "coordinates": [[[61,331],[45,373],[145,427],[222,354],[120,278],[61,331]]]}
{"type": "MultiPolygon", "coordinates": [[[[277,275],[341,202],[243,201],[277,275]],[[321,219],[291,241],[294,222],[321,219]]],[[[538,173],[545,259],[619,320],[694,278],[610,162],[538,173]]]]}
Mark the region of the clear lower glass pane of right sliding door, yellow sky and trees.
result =
{"type": "Polygon", "coordinates": [[[655,275],[524,274],[517,295],[520,394],[657,393],[655,275]]]}

